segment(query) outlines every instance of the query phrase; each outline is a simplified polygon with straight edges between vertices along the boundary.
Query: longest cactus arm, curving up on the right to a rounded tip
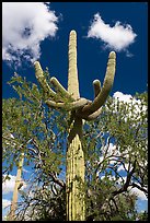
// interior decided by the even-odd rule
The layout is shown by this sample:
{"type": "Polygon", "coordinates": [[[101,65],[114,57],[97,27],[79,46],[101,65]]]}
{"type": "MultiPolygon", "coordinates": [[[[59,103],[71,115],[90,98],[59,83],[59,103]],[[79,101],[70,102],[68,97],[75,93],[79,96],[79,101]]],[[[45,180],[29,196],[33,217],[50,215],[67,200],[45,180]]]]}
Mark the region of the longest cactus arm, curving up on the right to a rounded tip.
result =
{"type": "Polygon", "coordinates": [[[116,54],[114,51],[111,51],[103,87],[99,93],[99,95],[94,98],[93,103],[91,105],[84,106],[82,111],[88,111],[90,114],[94,113],[105,103],[114,82],[115,66],[116,66],[116,54]]]}

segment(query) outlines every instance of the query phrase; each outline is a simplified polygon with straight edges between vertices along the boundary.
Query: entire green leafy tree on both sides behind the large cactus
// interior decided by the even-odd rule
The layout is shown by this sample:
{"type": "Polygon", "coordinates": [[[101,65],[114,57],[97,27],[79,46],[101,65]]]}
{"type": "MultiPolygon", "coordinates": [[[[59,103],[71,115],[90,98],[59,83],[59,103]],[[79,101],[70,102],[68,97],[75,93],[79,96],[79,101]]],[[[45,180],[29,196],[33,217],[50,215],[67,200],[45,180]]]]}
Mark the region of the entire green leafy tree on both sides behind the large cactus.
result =
{"type": "MultiPolygon", "coordinates": [[[[48,70],[44,73],[47,79],[48,70]]],[[[22,152],[24,167],[33,166],[26,189],[20,191],[16,218],[65,221],[70,115],[48,108],[43,90],[25,78],[15,73],[9,84],[19,98],[2,99],[3,180],[18,166],[22,152]]],[[[126,103],[109,96],[101,116],[84,122],[86,220],[138,216],[131,189],[148,196],[147,108],[147,92],[137,93],[126,103]]]]}

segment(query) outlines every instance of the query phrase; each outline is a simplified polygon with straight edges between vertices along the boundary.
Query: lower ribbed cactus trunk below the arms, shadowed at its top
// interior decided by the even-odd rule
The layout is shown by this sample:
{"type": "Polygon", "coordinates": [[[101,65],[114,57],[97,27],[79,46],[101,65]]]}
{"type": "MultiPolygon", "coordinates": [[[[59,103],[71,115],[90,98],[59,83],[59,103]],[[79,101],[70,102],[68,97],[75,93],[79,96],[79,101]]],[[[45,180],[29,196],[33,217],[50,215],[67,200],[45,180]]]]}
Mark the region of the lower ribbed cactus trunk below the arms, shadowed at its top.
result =
{"type": "Polygon", "coordinates": [[[84,153],[82,150],[82,119],[76,118],[68,137],[67,151],[67,221],[84,221],[84,153]]]}

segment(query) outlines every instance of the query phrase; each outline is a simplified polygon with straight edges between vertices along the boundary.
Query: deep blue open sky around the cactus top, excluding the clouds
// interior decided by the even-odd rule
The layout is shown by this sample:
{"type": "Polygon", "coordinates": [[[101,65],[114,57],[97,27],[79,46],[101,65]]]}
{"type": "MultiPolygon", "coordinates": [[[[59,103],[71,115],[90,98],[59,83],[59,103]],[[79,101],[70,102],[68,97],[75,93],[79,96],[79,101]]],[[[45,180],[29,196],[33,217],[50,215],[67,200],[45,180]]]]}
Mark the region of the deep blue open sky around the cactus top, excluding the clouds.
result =
{"type": "MultiPolygon", "coordinates": [[[[130,24],[137,34],[136,40],[128,47],[132,57],[125,51],[117,52],[116,75],[111,92],[120,91],[134,95],[147,90],[148,82],[148,4],[145,2],[51,2],[50,10],[59,16],[58,31],[54,38],[46,38],[41,44],[39,58],[43,69],[48,67],[50,75],[55,75],[67,87],[68,75],[68,38],[69,32],[78,34],[78,71],[80,94],[93,98],[92,82],[100,79],[103,83],[107,57],[111,50],[102,48],[103,43],[95,38],[86,38],[90,22],[95,13],[100,13],[105,23],[114,26],[116,21],[130,24]]],[[[21,68],[2,62],[2,97],[16,96],[7,82],[13,72],[26,77],[37,83],[34,68],[22,61],[21,68]]]]}

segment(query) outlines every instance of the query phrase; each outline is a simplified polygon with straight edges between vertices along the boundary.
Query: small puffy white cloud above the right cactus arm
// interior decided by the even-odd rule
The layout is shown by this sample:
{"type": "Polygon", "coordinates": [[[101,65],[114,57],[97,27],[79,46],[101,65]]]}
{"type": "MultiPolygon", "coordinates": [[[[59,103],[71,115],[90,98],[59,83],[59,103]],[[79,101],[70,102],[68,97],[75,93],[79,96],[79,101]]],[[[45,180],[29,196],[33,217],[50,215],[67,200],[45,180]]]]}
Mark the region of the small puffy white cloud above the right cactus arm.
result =
{"type": "MultiPolygon", "coordinates": [[[[134,33],[129,24],[122,25],[119,21],[114,26],[106,24],[101,15],[96,13],[89,28],[88,37],[99,38],[104,42],[106,48],[116,51],[125,50],[135,42],[137,34],[134,33]]],[[[131,56],[127,50],[127,56],[131,56]]]]}

